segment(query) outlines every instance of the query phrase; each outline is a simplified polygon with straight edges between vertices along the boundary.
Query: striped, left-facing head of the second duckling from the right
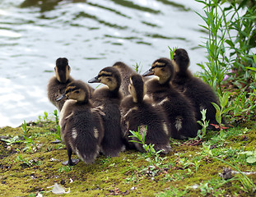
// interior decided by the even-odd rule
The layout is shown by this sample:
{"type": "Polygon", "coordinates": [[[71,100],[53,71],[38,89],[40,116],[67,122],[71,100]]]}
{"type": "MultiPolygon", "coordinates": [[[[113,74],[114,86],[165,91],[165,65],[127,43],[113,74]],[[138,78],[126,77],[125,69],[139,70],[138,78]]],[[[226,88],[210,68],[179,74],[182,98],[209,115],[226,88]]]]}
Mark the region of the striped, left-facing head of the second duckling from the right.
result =
{"type": "Polygon", "coordinates": [[[158,76],[159,83],[169,83],[174,78],[175,69],[173,63],[168,58],[160,58],[152,63],[151,69],[146,71],[142,76],[158,76]]]}

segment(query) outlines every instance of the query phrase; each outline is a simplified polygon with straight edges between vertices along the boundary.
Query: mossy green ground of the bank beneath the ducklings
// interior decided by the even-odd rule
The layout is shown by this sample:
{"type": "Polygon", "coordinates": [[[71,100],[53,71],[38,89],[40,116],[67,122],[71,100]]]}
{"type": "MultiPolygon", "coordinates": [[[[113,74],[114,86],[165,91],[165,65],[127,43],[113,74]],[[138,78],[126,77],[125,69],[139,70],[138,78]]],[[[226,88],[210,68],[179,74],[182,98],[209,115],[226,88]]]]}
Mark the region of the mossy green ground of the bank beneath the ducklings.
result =
{"type": "MultiPolygon", "coordinates": [[[[0,141],[0,196],[56,196],[52,188],[48,188],[55,182],[70,188],[65,196],[77,197],[255,194],[244,191],[239,176],[227,181],[221,178],[219,173],[229,165],[214,158],[235,164],[243,172],[256,172],[256,163],[246,163],[246,155],[239,154],[255,148],[254,126],[231,128],[221,137],[217,131],[208,132],[203,146],[190,146],[186,140],[170,140],[173,152],[162,155],[164,159],[156,163],[155,168],[147,162],[145,154],[135,150],[124,151],[117,158],[100,155],[93,164],[80,162],[66,167],[62,164],[67,160],[65,146],[51,144],[55,140],[56,123],[37,121],[28,128],[27,135],[32,136],[30,142],[22,137],[21,127],[0,129],[1,138],[19,136],[20,140],[9,145],[0,141]]],[[[248,177],[256,182],[255,174],[248,177]]]]}

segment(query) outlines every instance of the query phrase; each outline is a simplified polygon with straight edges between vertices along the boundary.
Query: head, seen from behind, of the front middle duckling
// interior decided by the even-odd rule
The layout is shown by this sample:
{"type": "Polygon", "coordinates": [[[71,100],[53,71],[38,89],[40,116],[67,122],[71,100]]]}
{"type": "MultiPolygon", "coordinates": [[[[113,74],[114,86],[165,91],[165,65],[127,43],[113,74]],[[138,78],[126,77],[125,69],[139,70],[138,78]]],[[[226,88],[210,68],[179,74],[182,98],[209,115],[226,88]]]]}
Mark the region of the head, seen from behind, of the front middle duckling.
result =
{"type": "Polygon", "coordinates": [[[134,103],[142,103],[144,95],[146,94],[146,87],[143,83],[142,76],[137,74],[131,76],[128,90],[133,97],[134,103]]]}

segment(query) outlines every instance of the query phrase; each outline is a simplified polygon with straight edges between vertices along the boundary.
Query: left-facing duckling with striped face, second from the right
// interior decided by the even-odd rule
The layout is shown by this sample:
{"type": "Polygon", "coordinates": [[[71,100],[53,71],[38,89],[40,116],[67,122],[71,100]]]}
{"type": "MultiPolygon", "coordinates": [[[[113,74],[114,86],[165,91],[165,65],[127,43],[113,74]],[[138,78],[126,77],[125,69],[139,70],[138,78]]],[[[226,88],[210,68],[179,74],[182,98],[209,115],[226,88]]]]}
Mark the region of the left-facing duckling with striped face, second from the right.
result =
{"type": "Polygon", "coordinates": [[[170,59],[160,58],[142,76],[155,75],[146,83],[147,94],[160,105],[170,123],[172,138],[185,139],[198,134],[194,108],[189,99],[172,85],[175,70],[170,59]]]}

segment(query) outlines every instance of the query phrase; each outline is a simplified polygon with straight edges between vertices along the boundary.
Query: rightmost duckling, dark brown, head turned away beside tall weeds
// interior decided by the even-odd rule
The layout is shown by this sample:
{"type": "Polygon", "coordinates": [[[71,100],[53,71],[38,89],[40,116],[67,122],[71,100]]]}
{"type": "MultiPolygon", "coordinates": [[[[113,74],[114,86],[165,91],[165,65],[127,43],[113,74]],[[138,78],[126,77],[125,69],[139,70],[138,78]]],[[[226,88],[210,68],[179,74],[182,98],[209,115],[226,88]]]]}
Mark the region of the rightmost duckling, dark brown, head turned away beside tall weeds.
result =
{"type": "Polygon", "coordinates": [[[173,84],[194,104],[196,119],[201,121],[202,113],[200,111],[207,109],[206,117],[209,120],[209,124],[217,125],[216,109],[212,103],[219,105],[219,99],[210,85],[194,77],[191,71],[189,71],[189,55],[184,48],[175,50],[173,63],[176,70],[173,84]]]}

